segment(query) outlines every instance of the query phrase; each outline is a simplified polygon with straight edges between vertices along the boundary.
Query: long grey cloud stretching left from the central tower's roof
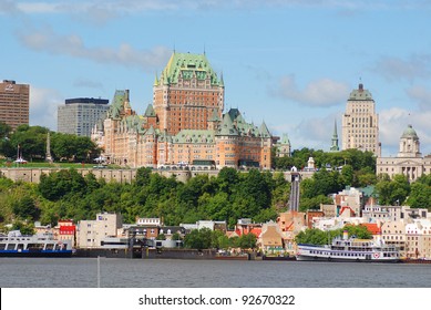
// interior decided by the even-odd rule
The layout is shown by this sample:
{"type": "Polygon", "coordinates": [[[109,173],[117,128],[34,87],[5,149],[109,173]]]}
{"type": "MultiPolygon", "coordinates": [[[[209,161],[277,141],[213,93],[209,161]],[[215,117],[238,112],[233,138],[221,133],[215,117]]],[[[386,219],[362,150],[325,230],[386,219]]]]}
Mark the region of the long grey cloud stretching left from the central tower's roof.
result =
{"type": "Polygon", "coordinates": [[[33,31],[21,31],[18,34],[23,45],[31,50],[51,54],[81,58],[99,63],[113,63],[124,66],[138,66],[146,72],[154,72],[166,63],[172,51],[164,46],[151,50],[136,50],[127,43],[117,49],[89,48],[76,34],[61,35],[45,27],[33,31]]]}

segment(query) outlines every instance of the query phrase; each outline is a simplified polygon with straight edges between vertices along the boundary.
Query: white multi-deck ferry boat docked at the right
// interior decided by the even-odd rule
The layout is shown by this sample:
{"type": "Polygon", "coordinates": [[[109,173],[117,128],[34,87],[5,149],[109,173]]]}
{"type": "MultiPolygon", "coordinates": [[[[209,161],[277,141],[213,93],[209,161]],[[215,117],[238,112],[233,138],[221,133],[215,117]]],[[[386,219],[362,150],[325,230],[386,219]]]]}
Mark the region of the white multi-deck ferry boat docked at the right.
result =
{"type": "Polygon", "coordinates": [[[316,246],[299,244],[297,260],[308,261],[358,261],[358,262],[400,262],[397,247],[386,245],[383,240],[348,238],[332,239],[331,245],[316,246]]]}

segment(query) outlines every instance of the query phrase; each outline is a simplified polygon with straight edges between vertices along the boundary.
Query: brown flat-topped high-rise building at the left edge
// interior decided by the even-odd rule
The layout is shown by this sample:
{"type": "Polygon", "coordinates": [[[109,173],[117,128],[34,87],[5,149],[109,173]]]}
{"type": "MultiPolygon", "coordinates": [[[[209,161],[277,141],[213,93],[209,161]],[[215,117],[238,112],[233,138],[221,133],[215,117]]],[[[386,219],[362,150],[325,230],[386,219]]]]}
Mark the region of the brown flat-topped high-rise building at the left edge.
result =
{"type": "Polygon", "coordinates": [[[0,83],[0,122],[14,131],[19,125],[29,124],[30,85],[3,80],[0,83]]]}

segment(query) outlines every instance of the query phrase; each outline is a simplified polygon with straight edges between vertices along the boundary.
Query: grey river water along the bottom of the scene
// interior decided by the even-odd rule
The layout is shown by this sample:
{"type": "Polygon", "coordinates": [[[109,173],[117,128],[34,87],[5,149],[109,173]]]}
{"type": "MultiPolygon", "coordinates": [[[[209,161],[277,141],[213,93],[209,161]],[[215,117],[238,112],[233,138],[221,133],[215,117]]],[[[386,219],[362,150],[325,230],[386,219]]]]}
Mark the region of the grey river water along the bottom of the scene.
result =
{"type": "Polygon", "coordinates": [[[430,288],[431,265],[0,258],[2,288],[430,288]],[[100,277],[98,277],[100,275],[100,277]]]}

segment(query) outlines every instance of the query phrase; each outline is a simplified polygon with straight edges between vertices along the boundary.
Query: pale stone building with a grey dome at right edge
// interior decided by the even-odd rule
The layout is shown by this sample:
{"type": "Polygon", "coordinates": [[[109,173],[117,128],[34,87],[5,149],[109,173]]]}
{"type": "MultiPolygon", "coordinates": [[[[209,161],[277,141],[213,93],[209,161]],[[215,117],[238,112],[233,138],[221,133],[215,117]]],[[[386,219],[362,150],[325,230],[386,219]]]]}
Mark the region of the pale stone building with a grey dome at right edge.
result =
{"type": "Polygon", "coordinates": [[[387,174],[390,178],[402,174],[409,182],[414,182],[418,177],[431,173],[431,156],[422,157],[420,142],[412,125],[408,125],[400,137],[400,147],[394,157],[377,157],[376,174],[387,174]]]}

